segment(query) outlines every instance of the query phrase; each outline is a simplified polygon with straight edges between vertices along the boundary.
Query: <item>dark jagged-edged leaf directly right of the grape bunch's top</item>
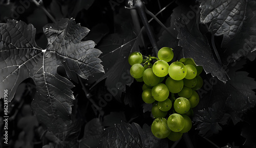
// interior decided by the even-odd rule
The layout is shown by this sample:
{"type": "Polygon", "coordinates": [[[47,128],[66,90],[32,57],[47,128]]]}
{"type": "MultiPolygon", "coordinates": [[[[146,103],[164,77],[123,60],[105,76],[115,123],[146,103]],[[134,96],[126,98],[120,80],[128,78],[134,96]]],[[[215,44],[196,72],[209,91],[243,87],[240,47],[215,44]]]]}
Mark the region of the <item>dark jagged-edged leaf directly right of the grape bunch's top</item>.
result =
{"type": "Polygon", "coordinates": [[[212,55],[209,44],[203,40],[203,35],[198,33],[198,36],[191,34],[186,26],[177,20],[176,29],[179,31],[178,39],[179,46],[183,49],[184,58],[193,58],[195,63],[203,66],[206,73],[211,73],[212,76],[217,76],[219,80],[226,82],[226,72],[221,68],[218,61],[212,55]]]}

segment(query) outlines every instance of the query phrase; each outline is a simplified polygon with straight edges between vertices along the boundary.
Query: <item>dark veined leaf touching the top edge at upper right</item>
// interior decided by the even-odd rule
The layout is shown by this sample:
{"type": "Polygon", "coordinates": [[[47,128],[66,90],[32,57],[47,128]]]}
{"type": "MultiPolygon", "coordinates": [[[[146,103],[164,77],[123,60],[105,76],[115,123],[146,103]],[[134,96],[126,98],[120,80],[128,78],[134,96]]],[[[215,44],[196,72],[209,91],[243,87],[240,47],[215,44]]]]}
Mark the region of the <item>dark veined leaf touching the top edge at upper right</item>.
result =
{"type": "Polygon", "coordinates": [[[246,13],[244,0],[199,0],[201,2],[201,23],[211,23],[209,29],[216,36],[223,35],[226,45],[243,26],[246,13]]]}

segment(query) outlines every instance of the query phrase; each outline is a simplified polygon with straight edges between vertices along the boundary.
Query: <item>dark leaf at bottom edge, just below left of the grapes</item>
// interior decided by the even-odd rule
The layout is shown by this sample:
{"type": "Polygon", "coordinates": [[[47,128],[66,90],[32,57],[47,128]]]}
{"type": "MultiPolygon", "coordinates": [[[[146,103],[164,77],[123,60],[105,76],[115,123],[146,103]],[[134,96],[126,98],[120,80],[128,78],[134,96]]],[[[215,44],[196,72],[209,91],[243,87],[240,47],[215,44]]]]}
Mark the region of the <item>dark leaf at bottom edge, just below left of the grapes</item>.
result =
{"type": "Polygon", "coordinates": [[[98,147],[168,147],[167,139],[156,138],[150,126],[144,124],[143,129],[137,123],[116,124],[103,132],[98,147]]]}

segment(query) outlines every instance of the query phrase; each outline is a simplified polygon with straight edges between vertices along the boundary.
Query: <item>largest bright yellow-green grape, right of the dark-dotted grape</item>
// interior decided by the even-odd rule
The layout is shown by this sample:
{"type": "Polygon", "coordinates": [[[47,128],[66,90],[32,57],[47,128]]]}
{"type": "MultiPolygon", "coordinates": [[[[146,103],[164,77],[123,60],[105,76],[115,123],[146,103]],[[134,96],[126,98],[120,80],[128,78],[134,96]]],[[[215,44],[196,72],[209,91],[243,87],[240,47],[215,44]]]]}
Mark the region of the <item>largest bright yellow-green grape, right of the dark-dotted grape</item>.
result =
{"type": "Polygon", "coordinates": [[[175,61],[170,64],[168,73],[174,80],[182,80],[187,74],[187,69],[182,62],[175,61]]]}

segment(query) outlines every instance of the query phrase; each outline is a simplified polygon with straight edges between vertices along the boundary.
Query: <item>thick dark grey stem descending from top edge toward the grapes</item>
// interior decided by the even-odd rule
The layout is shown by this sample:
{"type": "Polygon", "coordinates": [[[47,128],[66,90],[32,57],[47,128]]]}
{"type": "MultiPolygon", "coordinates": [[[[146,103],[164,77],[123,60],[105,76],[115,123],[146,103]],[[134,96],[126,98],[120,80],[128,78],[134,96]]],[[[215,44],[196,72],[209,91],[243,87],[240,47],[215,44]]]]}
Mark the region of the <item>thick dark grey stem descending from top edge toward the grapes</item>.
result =
{"type": "Polygon", "coordinates": [[[148,20],[146,17],[145,11],[148,11],[148,10],[146,9],[145,4],[141,0],[133,0],[133,6],[131,8],[127,8],[127,7],[125,7],[125,8],[137,10],[137,12],[140,15],[140,19],[142,20],[143,26],[146,29],[147,36],[150,39],[151,45],[153,47],[153,52],[157,55],[159,48],[157,46],[156,39],[154,37],[154,34],[150,28],[150,24],[148,23],[148,20]]]}

